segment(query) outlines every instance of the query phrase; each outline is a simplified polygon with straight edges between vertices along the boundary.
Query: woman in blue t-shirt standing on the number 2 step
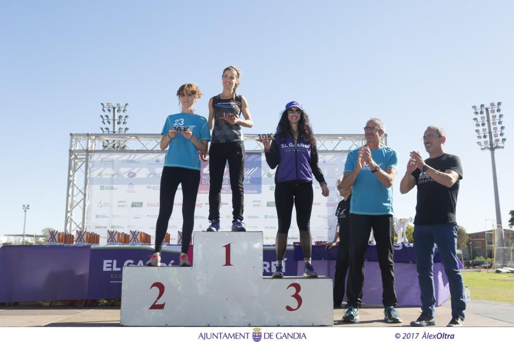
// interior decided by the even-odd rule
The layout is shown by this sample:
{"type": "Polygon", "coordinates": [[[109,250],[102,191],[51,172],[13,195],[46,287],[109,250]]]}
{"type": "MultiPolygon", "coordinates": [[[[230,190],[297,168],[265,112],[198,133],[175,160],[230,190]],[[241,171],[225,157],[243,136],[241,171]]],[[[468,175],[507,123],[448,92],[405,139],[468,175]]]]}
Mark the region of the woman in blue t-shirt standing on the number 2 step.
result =
{"type": "Polygon", "coordinates": [[[189,242],[193,233],[196,194],[200,184],[198,153],[207,151],[211,139],[207,119],[194,113],[194,104],[201,96],[200,88],[186,83],[177,90],[181,112],[166,118],[162,127],[160,148],[168,147],[160,181],[159,216],[155,229],[155,253],[146,262],[160,266],[162,241],[168,230],[173,202],[179,184],[182,184],[182,251],[179,266],[191,266],[188,258],[189,242]]]}

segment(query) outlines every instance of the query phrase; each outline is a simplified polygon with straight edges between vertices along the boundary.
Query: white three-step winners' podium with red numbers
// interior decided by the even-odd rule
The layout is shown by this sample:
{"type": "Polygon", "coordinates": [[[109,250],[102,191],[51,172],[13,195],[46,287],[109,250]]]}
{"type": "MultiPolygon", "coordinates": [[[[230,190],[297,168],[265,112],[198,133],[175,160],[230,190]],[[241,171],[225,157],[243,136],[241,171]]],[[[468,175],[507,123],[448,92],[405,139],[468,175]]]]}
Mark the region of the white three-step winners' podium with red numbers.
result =
{"type": "Polygon", "coordinates": [[[262,276],[262,232],[194,232],[192,267],[123,268],[122,326],[332,326],[332,278],[262,276]]]}

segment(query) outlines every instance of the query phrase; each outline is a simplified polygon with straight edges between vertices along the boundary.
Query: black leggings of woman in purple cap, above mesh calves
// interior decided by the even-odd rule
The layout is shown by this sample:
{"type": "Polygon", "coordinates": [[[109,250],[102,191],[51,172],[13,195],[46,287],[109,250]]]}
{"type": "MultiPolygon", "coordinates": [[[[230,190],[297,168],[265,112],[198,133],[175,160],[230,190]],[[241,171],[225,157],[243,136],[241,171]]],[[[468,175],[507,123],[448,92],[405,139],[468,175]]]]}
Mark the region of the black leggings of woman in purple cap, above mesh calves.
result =
{"type": "Polygon", "coordinates": [[[312,183],[275,184],[275,205],[279,218],[279,233],[289,232],[292,206],[296,208],[296,223],[300,231],[308,231],[310,213],[313,210],[314,192],[312,183]]]}

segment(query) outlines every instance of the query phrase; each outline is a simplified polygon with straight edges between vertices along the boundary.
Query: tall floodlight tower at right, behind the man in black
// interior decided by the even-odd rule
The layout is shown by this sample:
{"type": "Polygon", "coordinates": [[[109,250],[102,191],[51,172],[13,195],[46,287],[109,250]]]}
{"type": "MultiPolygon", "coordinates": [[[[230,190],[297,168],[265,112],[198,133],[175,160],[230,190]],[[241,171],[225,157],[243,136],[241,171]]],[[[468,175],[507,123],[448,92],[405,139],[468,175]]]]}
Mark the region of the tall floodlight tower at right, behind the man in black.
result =
{"type": "Polygon", "coordinates": [[[496,224],[498,232],[500,235],[500,248],[503,248],[504,245],[504,236],[503,236],[503,225],[502,225],[502,215],[500,211],[500,196],[498,194],[498,178],[496,176],[496,161],[494,159],[494,151],[498,148],[505,147],[506,138],[504,138],[504,130],[505,126],[503,126],[503,114],[501,113],[500,106],[501,102],[494,103],[491,102],[489,107],[486,107],[484,104],[480,105],[480,108],[476,106],[472,106],[473,113],[475,117],[473,121],[475,122],[476,138],[479,141],[476,142],[480,146],[482,150],[489,150],[491,152],[491,164],[492,164],[492,182],[494,186],[494,204],[496,207],[496,224]],[[485,111],[485,116],[484,116],[485,111]],[[492,126],[492,128],[491,128],[492,126]]]}

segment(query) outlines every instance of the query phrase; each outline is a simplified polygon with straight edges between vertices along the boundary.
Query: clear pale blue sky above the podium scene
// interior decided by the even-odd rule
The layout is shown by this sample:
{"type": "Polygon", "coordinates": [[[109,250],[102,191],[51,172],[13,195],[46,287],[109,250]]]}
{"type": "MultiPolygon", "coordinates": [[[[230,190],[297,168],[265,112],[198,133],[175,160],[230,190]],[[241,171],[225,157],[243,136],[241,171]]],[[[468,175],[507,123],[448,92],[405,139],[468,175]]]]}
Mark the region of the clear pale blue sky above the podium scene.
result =
{"type": "Polygon", "coordinates": [[[273,131],[291,100],[317,134],[360,134],[387,125],[400,157],[397,217],[414,216],[415,191],[400,195],[409,151],[430,124],[461,157],[457,221],[468,232],[495,218],[491,161],[476,145],[471,106],[502,101],[506,148],[497,168],[504,225],[514,210],[514,79],[511,1],[16,1],[0,3],[0,235],[63,230],[70,132],[98,133],[100,102],[130,103],[134,133],[159,133],[179,110],[182,83],[209,97],[227,65],[254,127],[273,131]],[[510,42],[510,43],[509,43],[510,42]],[[508,156],[511,156],[510,158],[508,156]]]}

